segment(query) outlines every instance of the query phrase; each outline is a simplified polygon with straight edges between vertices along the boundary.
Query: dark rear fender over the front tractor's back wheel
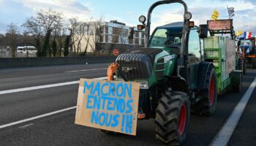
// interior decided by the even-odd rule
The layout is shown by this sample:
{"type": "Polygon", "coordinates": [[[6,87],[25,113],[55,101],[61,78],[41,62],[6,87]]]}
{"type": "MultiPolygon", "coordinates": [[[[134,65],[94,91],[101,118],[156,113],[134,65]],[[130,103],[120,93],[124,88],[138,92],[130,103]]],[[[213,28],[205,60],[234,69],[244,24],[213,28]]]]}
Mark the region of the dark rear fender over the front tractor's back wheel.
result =
{"type": "Polygon", "coordinates": [[[197,89],[201,90],[206,88],[206,74],[208,69],[214,67],[211,62],[200,62],[197,68],[197,89]]]}

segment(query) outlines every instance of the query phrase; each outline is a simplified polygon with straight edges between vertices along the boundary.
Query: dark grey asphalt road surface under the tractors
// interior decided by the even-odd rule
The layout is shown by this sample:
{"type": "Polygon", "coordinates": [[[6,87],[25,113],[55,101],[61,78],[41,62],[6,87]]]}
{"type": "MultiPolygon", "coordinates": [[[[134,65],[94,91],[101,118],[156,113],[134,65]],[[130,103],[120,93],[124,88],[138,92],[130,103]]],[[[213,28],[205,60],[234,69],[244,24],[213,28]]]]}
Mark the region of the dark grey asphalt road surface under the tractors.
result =
{"type": "MultiPolygon", "coordinates": [[[[45,66],[0,69],[0,91],[105,77],[108,64],[45,66]],[[70,72],[71,71],[71,72],[70,72]],[[73,72],[75,71],[75,72],[73,72]]],[[[212,117],[192,115],[184,145],[209,145],[256,77],[248,69],[241,93],[219,96],[212,117]]],[[[57,110],[74,107],[78,84],[0,95],[0,126],[57,110]]],[[[244,110],[228,145],[256,145],[256,91],[244,110]]],[[[102,134],[95,128],[75,125],[75,110],[0,128],[0,145],[162,145],[155,139],[154,120],[139,120],[137,136],[102,134]]]]}

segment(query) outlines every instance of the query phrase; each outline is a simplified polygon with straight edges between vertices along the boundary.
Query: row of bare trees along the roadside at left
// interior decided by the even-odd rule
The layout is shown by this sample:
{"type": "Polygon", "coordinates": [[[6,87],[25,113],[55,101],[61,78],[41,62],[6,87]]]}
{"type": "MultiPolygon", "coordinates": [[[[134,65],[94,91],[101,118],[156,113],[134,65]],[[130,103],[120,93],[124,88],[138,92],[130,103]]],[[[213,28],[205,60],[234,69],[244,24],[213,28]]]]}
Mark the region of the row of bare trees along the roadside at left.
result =
{"type": "Polygon", "coordinates": [[[102,18],[91,18],[87,22],[81,22],[78,18],[65,20],[61,12],[40,10],[22,24],[22,33],[17,25],[10,23],[7,33],[0,34],[0,46],[9,46],[12,57],[15,57],[19,43],[34,45],[39,57],[83,55],[89,48],[94,52],[101,21],[102,18]],[[85,45],[81,45],[82,41],[85,45]]]}

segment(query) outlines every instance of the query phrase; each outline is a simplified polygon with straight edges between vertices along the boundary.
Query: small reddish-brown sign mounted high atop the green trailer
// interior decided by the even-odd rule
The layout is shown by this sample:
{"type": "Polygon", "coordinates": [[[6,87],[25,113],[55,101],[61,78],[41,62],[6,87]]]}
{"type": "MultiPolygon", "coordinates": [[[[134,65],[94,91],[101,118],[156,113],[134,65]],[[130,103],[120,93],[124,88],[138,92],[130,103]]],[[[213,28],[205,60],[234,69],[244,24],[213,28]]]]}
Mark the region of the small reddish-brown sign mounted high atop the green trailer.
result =
{"type": "Polygon", "coordinates": [[[232,20],[208,20],[210,31],[228,31],[232,29],[232,20]]]}

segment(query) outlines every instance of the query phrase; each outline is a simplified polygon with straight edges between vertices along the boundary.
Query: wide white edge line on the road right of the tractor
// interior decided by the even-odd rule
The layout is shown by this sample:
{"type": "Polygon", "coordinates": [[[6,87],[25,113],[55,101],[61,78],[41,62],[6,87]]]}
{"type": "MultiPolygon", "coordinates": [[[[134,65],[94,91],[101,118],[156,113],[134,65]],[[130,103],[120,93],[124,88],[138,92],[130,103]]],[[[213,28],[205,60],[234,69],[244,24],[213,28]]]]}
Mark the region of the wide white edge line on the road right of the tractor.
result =
{"type": "Polygon", "coordinates": [[[246,93],[236,105],[235,109],[231,113],[230,117],[226,120],[225,124],[219,130],[218,134],[214,137],[214,140],[211,142],[211,146],[226,146],[230,137],[233,134],[233,131],[236,128],[236,125],[241,118],[242,113],[244,112],[244,108],[248,103],[250,97],[252,96],[252,92],[254,91],[256,86],[256,77],[252,84],[247,89],[246,93]]]}

